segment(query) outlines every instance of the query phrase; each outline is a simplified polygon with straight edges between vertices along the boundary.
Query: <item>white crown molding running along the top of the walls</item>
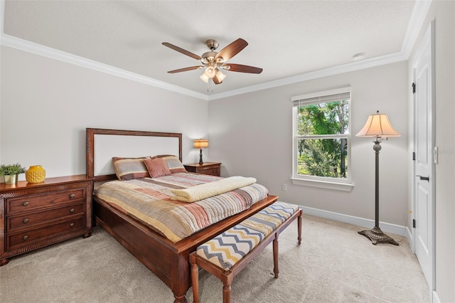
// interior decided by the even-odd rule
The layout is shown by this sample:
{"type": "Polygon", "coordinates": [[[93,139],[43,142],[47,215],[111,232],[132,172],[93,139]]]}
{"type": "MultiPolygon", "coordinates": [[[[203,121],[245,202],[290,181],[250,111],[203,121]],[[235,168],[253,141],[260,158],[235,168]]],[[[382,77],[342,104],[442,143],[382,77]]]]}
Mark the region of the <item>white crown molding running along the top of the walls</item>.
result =
{"type": "Polygon", "coordinates": [[[111,65],[97,62],[95,60],[90,60],[87,58],[82,58],[77,55],[70,53],[65,53],[61,50],[55,50],[54,48],[49,48],[47,46],[42,46],[38,43],[33,43],[31,41],[26,41],[21,38],[16,38],[14,36],[6,35],[3,31],[4,28],[4,0],[0,0],[0,44],[4,46],[9,46],[11,48],[17,48],[29,53],[35,53],[37,55],[42,55],[44,57],[53,58],[55,60],[60,60],[63,62],[71,63],[78,65],[84,68],[90,68],[92,70],[97,70],[102,73],[107,73],[109,75],[114,75],[120,78],[125,78],[139,83],[144,83],[146,85],[151,85],[154,87],[159,87],[164,90],[170,90],[172,92],[177,92],[182,95],[188,95],[191,97],[196,97],[201,100],[217,100],[225,97],[232,97],[235,95],[242,95],[248,92],[256,92],[258,90],[265,90],[273,87],[279,87],[284,85],[290,85],[294,83],[299,83],[306,80],[323,78],[330,75],[338,75],[341,73],[348,73],[355,70],[363,70],[365,68],[373,68],[375,66],[396,63],[403,60],[407,60],[410,56],[414,43],[417,40],[419,31],[422,28],[425,16],[427,16],[429,6],[432,3],[432,0],[416,1],[414,10],[412,11],[412,16],[410,18],[410,23],[406,31],[405,40],[403,41],[402,49],[398,53],[392,53],[389,55],[382,55],[377,58],[371,58],[368,60],[361,60],[353,63],[348,63],[345,65],[338,65],[332,68],[325,68],[323,70],[315,70],[313,72],[304,73],[301,75],[295,75],[288,78],[282,78],[279,80],[269,81],[267,83],[262,83],[259,85],[252,85],[248,87],[243,87],[238,90],[230,90],[229,92],[221,92],[215,95],[205,95],[200,92],[195,92],[193,90],[188,90],[186,88],[172,85],[164,81],[156,80],[153,78],[145,77],[144,75],[139,75],[137,73],[132,73],[127,70],[122,70],[121,68],[114,68],[111,65]]]}

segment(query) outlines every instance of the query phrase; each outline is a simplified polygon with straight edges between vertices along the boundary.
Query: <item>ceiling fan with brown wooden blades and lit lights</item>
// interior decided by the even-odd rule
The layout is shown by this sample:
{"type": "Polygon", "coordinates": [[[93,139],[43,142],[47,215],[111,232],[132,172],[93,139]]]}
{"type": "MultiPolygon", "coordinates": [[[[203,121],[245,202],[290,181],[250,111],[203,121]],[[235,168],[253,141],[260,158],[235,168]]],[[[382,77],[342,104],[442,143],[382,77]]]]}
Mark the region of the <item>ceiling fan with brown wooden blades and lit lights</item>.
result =
{"type": "Polygon", "coordinates": [[[223,68],[223,70],[230,70],[231,72],[252,74],[262,73],[262,68],[255,68],[254,66],[242,64],[226,63],[226,61],[237,55],[237,53],[240,53],[240,51],[248,45],[247,41],[243,40],[242,38],[238,38],[236,41],[230,43],[218,53],[215,52],[215,50],[218,48],[218,41],[209,39],[208,41],[205,41],[205,45],[210,48],[210,51],[203,53],[203,55],[196,55],[189,52],[188,50],[174,46],[171,43],[163,42],[161,44],[167,46],[168,48],[172,48],[173,50],[177,50],[179,53],[183,53],[183,55],[188,55],[189,57],[194,58],[203,64],[191,66],[189,68],[179,68],[178,70],[169,70],[168,73],[171,74],[186,72],[187,70],[200,70],[201,68],[205,68],[205,72],[200,75],[200,79],[205,83],[208,83],[208,79],[211,78],[213,80],[213,83],[220,84],[223,83],[223,79],[226,78],[226,75],[221,73],[220,68],[223,68]]]}

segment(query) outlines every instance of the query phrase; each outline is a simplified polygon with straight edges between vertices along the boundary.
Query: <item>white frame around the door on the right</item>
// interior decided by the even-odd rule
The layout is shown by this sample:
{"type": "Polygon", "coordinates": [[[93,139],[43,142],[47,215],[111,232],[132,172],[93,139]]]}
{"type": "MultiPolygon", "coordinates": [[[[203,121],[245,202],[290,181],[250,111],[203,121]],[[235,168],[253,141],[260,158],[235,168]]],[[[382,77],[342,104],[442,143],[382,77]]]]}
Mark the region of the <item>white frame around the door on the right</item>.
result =
{"type": "MultiPolygon", "coordinates": [[[[436,278],[436,257],[435,257],[435,249],[436,249],[436,206],[435,206],[435,201],[436,201],[436,191],[435,191],[435,164],[437,163],[437,149],[436,149],[436,144],[435,144],[435,138],[436,138],[436,119],[435,119],[435,81],[434,81],[434,75],[435,75],[435,27],[434,27],[435,21],[432,20],[429,23],[429,26],[427,28],[427,31],[424,34],[424,37],[422,38],[422,41],[420,42],[419,47],[417,48],[417,53],[414,56],[414,60],[412,62],[412,82],[416,82],[416,74],[415,74],[415,66],[417,61],[422,57],[422,54],[424,53],[424,50],[429,48],[430,50],[430,67],[429,71],[431,73],[430,75],[430,87],[429,90],[431,90],[430,93],[430,100],[431,106],[429,107],[431,110],[431,113],[429,115],[429,127],[431,127],[431,139],[429,140],[429,146],[431,147],[431,152],[429,153],[431,156],[430,162],[431,162],[431,168],[429,170],[429,187],[430,190],[432,191],[431,193],[431,207],[430,207],[430,222],[429,222],[429,230],[428,230],[428,235],[429,235],[429,264],[430,264],[430,270],[429,270],[429,297],[433,302],[433,292],[436,290],[435,289],[435,278],[436,278]]],[[[417,119],[415,117],[415,94],[412,95],[412,127],[413,127],[413,137],[412,137],[412,149],[415,152],[415,144],[416,144],[416,123],[417,119]]],[[[416,182],[415,182],[415,161],[412,161],[412,193],[411,193],[411,203],[412,203],[412,220],[416,219],[416,203],[415,203],[415,191],[416,191],[416,182]]],[[[412,225],[412,224],[411,224],[412,225]]],[[[415,253],[415,247],[416,247],[416,231],[415,228],[412,228],[412,243],[411,243],[411,250],[412,252],[415,253]]]]}

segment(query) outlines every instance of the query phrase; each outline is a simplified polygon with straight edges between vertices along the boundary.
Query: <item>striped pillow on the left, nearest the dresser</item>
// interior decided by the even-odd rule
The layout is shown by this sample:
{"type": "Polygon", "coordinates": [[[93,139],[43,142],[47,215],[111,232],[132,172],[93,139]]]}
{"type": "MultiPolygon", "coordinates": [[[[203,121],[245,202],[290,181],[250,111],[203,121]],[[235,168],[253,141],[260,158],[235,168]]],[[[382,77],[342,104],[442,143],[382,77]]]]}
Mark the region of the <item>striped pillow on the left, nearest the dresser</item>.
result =
{"type": "Polygon", "coordinates": [[[144,159],[149,158],[149,156],[141,158],[121,158],[118,156],[112,157],[117,178],[119,180],[125,181],[150,177],[149,171],[144,164],[144,159]]]}

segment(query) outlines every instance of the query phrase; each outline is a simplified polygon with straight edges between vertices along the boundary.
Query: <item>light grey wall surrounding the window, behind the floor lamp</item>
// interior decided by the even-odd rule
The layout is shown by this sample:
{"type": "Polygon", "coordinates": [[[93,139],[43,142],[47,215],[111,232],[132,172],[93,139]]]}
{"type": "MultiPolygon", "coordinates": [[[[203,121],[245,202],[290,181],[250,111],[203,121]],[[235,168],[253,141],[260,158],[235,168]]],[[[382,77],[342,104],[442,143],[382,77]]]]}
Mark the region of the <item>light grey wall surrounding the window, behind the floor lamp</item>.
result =
{"type": "MultiPolygon", "coordinates": [[[[375,218],[373,139],[355,137],[376,110],[389,116],[402,137],[382,142],[380,220],[405,225],[407,219],[407,62],[227,97],[209,102],[210,158],[222,175],[255,176],[280,200],[360,218],[375,218]],[[291,96],[351,86],[350,192],[293,185],[291,177],[291,96]],[[282,191],[287,184],[287,191],[282,191]]],[[[373,226],[372,226],[373,227],[373,226]]]]}

